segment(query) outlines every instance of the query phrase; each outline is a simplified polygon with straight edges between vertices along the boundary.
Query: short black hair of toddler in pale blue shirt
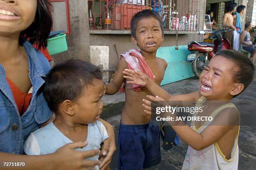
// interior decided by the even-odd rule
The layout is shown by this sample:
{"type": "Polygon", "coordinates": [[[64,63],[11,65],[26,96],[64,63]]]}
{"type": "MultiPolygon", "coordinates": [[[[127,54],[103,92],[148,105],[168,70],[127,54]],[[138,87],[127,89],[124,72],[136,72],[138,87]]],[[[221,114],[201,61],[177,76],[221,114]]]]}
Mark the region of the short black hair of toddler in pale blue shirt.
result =
{"type": "Polygon", "coordinates": [[[94,79],[102,79],[100,69],[92,63],[70,59],[56,64],[46,75],[43,94],[52,112],[64,100],[74,101],[94,79]]]}

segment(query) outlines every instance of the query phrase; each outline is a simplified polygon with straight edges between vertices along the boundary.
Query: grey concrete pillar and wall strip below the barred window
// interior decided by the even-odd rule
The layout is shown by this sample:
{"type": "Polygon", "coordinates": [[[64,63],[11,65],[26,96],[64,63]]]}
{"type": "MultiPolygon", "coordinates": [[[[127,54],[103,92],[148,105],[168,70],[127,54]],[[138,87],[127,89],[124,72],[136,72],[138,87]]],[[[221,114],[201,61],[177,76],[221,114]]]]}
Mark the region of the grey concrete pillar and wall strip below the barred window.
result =
{"type": "MultiPolygon", "coordinates": [[[[202,30],[206,0],[200,2],[199,30],[202,30]]],[[[68,51],[52,56],[54,63],[69,58],[90,61],[90,46],[109,46],[109,69],[115,69],[120,53],[130,48],[137,48],[131,43],[131,36],[128,34],[90,34],[87,0],[69,0],[69,8],[71,35],[67,36],[68,51]],[[114,45],[116,45],[116,50],[114,45]]],[[[175,35],[165,35],[162,46],[175,46],[175,40],[175,35]]],[[[185,45],[189,41],[202,41],[202,36],[200,34],[179,34],[179,45],[185,45]]]]}

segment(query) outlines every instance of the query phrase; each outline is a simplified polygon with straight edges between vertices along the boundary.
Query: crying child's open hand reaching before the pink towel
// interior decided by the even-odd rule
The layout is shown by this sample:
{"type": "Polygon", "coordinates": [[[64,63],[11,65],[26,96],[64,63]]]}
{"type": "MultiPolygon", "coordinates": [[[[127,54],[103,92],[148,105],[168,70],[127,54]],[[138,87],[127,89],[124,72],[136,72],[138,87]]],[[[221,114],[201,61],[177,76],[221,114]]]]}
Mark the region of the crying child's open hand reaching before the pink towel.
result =
{"type": "Polygon", "coordinates": [[[149,79],[146,74],[137,70],[125,69],[123,71],[123,74],[126,74],[126,76],[123,76],[125,79],[131,80],[131,81],[127,81],[127,83],[129,84],[138,84],[141,86],[146,86],[149,79]]]}

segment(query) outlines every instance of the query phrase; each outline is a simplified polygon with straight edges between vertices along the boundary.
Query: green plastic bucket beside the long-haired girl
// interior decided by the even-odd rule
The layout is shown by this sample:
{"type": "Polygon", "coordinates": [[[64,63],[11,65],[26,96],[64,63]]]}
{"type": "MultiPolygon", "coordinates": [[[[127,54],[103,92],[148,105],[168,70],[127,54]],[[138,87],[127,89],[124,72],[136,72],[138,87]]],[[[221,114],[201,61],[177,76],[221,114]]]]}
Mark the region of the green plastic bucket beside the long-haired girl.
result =
{"type": "Polygon", "coordinates": [[[47,50],[50,55],[62,53],[67,51],[66,34],[59,33],[56,36],[47,39],[47,50]]]}

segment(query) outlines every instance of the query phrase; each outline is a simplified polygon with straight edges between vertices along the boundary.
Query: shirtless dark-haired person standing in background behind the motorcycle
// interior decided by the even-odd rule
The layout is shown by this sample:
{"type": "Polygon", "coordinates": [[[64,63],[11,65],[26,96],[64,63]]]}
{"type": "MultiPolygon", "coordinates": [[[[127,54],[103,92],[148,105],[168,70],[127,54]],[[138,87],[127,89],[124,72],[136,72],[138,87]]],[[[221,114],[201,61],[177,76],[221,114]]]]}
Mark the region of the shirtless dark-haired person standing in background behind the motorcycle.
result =
{"type": "MultiPolygon", "coordinates": [[[[233,25],[233,13],[236,11],[236,5],[237,3],[230,3],[227,6],[227,13],[223,16],[223,26],[225,29],[232,27],[233,30],[236,30],[236,27],[233,25]]],[[[229,30],[225,33],[225,38],[228,39],[228,41],[231,43],[231,49],[233,49],[233,31],[229,30]]]]}

